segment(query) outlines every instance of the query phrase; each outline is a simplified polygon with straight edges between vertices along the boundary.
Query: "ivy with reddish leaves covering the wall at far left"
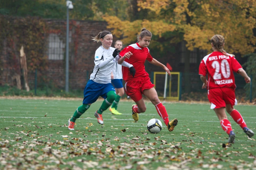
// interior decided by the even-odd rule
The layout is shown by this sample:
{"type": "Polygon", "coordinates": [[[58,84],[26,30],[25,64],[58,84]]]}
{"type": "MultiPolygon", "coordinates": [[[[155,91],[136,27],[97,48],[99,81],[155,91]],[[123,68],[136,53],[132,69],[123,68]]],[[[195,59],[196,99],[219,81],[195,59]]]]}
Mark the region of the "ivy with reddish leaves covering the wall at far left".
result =
{"type": "MultiPolygon", "coordinates": [[[[21,46],[24,47],[29,71],[46,70],[47,56],[45,55],[45,37],[47,34],[46,22],[41,18],[26,17],[13,18],[0,15],[0,42],[6,42],[6,51],[9,54],[8,63],[13,63],[10,69],[19,73],[19,55],[21,46]]],[[[0,46],[3,54],[4,44],[0,46]]],[[[1,68],[3,68],[2,63],[1,68]]]]}

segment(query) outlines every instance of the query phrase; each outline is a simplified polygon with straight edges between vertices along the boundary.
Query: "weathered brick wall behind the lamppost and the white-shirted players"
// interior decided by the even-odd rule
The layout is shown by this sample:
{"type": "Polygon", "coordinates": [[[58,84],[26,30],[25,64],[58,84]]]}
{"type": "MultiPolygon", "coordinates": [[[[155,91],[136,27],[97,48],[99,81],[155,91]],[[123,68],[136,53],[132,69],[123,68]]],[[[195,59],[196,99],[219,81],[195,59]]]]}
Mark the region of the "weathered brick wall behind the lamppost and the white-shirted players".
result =
{"type": "MultiPolygon", "coordinates": [[[[17,18],[15,18],[17,19],[17,18]]],[[[14,20],[10,17],[10,21],[14,20]]],[[[49,28],[49,33],[56,33],[63,43],[66,44],[66,21],[65,20],[45,20],[49,28]]],[[[101,45],[92,39],[99,32],[107,30],[107,23],[104,21],[70,21],[70,43],[69,43],[69,87],[70,89],[83,89],[90,78],[90,74],[94,68],[95,50],[101,45]]],[[[45,34],[49,35],[49,34],[45,34]]],[[[48,46],[47,37],[45,37],[46,49],[48,46]]],[[[113,37],[113,41],[117,40],[113,37]]],[[[21,75],[20,67],[17,70],[12,69],[13,64],[20,65],[19,49],[16,51],[16,60],[10,59],[8,54],[8,45],[1,42],[3,50],[1,51],[1,74],[0,85],[14,85],[12,77],[15,74],[21,75]]],[[[112,45],[113,46],[113,45],[112,45]]],[[[64,51],[66,49],[64,48],[64,51]]],[[[10,50],[9,50],[10,51],[10,50]]],[[[26,49],[25,49],[26,53],[26,49]]],[[[45,54],[47,51],[45,51],[45,54]]],[[[13,55],[12,55],[13,56],[13,55]]],[[[65,54],[63,60],[48,60],[48,69],[44,72],[37,73],[38,85],[54,86],[64,89],[65,87],[65,54]]],[[[34,88],[35,72],[28,73],[28,81],[31,89],[34,88]]]]}

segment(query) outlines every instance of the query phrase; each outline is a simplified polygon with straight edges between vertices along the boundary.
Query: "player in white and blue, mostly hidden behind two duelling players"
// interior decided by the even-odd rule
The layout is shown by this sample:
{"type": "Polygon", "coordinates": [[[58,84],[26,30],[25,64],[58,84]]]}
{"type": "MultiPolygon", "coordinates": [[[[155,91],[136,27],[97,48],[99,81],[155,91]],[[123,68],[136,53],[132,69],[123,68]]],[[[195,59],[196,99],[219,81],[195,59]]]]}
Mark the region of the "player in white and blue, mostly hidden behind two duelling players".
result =
{"type": "MultiPolygon", "coordinates": [[[[115,48],[118,50],[122,50],[123,42],[120,40],[117,40],[115,42],[115,48]]],[[[125,91],[123,86],[122,65],[118,63],[114,64],[113,71],[111,73],[111,83],[115,88],[116,97],[112,106],[109,108],[109,110],[111,111],[112,114],[121,115],[122,113],[119,113],[117,111],[117,106],[120,101],[120,98],[124,95],[125,91]]]]}

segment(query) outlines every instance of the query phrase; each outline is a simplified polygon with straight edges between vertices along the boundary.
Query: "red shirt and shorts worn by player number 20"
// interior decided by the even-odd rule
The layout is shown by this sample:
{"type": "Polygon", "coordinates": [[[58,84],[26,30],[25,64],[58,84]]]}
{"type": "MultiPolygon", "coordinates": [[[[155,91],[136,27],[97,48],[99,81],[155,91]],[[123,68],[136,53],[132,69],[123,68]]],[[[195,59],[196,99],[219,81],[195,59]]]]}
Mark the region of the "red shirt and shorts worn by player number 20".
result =
{"type": "Polygon", "coordinates": [[[214,51],[213,53],[205,56],[199,66],[199,75],[206,76],[208,73],[208,98],[212,103],[211,108],[225,107],[226,102],[219,101],[216,92],[225,88],[227,102],[233,106],[237,104],[235,99],[235,78],[234,72],[241,69],[242,66],[237,62],[235,57],[231,54],[224,55],[222,52],[214,51]],[[212,89],[212,90],[211,90],[212,89]]]}

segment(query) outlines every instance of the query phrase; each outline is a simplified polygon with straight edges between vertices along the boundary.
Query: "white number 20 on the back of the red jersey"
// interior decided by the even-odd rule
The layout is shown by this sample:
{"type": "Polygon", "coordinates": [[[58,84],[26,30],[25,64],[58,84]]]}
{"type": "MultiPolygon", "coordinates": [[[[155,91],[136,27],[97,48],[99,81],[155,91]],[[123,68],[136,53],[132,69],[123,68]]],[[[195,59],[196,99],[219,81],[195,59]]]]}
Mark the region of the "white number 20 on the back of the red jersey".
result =
{"type": "Polygon", "coordinates": [[[214,80],[221,79],[221,73],[224,78],[230,77],[230,66],[229,66],[229,62],[226,59],[222,60],[220,64],[218,61],[214,61],[212,63],[212,67],[215,68],[215,73],[213,75],[214,80]],[[219,73],[220,69],[221,69],[221,73],[219,73]]]}

